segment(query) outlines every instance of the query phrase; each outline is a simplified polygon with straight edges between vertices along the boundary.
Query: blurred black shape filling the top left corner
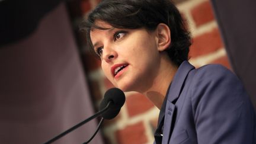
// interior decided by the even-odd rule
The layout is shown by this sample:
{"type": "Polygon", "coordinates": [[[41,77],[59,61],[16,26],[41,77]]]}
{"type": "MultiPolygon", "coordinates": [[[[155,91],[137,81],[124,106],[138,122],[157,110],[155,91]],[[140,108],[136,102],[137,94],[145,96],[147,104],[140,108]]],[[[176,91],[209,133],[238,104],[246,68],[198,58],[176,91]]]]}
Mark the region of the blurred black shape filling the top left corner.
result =
{"type": "Polygon", "coordinates": [[[28,37],[41,18],[63,0],[0,1],[0,46],[28,37]]]}

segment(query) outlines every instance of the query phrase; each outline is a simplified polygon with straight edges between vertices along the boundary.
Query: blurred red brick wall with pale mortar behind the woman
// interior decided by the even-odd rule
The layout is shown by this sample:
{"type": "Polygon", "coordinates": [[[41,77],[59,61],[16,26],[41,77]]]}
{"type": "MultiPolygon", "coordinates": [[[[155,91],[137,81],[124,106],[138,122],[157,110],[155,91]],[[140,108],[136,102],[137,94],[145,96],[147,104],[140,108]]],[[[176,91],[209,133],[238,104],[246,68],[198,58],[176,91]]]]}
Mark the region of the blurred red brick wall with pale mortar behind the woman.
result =
{"type": "MultiPolygon", "coordinates": [[[[83,1],[81,4],[82,12],[87,14],[89,9],[95,7],[98,2],[97,0],[83,1]]],[[[193,36],[190,62],[196,67],[208,63],[220,63],[231,69],[210,1],[176,0],[174,2],[187,20],[193,36]]],[[[99,60],[89,55],[87,50],[84,50],[82,57],[91,88],[92,100],[97,110],[104,92],[113,85],[101,71],[99,60]]],[[[113,120],[106,120],[104,123],[103,134],[106,143],[152,143],[158,114],[158,108],[148,98],[136,92],[127,92],[126,103],[121,108],[119,115],[113,120]]]]}

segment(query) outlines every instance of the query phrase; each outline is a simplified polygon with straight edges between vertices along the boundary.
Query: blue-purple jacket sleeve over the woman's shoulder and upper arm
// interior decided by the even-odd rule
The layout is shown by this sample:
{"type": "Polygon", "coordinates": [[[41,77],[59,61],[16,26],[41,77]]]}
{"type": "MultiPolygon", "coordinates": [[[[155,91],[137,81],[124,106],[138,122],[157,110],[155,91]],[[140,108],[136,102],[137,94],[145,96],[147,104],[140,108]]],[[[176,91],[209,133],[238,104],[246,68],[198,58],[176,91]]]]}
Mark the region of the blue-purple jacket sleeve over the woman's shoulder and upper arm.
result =
{"type": "Polygon", "coordinates": [[[223,143],[251,143],[255,113],[238,77],[221,65],[206,65],[193,71],[190,101],[199,141],[217,143],[211,137],[218,137],[223,143]],[[223,138],[219,133],[235,139],[223,138]]]}

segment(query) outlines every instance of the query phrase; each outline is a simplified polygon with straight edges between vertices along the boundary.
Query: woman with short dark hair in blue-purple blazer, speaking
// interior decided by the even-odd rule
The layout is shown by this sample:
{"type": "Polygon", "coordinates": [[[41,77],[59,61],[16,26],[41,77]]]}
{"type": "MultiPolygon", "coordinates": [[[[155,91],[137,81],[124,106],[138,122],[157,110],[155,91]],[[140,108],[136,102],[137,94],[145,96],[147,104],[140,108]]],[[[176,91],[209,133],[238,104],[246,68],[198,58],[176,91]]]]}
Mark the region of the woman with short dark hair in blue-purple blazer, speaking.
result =
{"type": "Polygon", "coordinates": [[[256,143],[255,113],[232,72],[195,69],[190,33],[168,0],[106,0],[82,25],[105,76],[161,109],[155,143],[256,143]]]}

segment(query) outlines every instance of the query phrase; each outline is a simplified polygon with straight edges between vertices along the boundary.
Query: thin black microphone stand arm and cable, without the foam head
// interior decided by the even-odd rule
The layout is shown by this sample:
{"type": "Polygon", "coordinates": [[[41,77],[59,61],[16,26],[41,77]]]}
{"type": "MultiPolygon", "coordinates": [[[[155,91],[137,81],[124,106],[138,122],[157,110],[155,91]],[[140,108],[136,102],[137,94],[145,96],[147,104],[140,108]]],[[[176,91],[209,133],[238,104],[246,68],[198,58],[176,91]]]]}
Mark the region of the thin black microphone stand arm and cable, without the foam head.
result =
{"type": "MultiPolygon", "coordinates": [[[[81,121],[80,123],[76,124],[75,126],[71,127],[70,129],[66,130],[65,132],[63,133],[60,133],[59,135],[57,135],[56,137],[53,137],[52,139],[50,139],[48,142],[44,143],[44,144],[49,144],[49,143],[53,143],[55,142],[57,139],[59,139],[60,137],[62,136],[65,136],[66,134],[72,132],[73,130],[75,130],[76,128],[82,126],[83,124],[87,123],[88,121],[94,119],[95,117],[98,117],[100,116],[102,113],[104,113],[105,111],[107,111],[108,107],[110,106],[110,104],[113,103],[113,101],[109,101],[107,106],[105,108],[103,108],[103,110],[100,110],[98,111],[98,113],[95,113],[94,115],[92,115],[91,117],[89,117],[88,119],[84,120],[84,121],[81,121]]],[[[101,119],[101,123],[103,122],[104,119],[101,119]]],[[[100,123],[100,124],[101,124],[100,123]]],[[[98,128],[97,128],[97,132],[98,132],[98,129],[100,128],[100,124],[98,125],[98,128]]],[[[96,135],[96,133],[94,133],[94,136],[96,135]]],[[[93,137],[94,137],[93,136],[93,137]]],[[[91,137],[91,138],[93,138],[91,137]]],[[[91,141],[91,140],[89,140],[91,141]]]]}

